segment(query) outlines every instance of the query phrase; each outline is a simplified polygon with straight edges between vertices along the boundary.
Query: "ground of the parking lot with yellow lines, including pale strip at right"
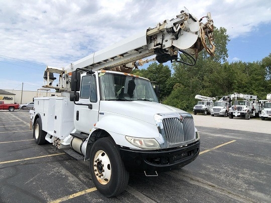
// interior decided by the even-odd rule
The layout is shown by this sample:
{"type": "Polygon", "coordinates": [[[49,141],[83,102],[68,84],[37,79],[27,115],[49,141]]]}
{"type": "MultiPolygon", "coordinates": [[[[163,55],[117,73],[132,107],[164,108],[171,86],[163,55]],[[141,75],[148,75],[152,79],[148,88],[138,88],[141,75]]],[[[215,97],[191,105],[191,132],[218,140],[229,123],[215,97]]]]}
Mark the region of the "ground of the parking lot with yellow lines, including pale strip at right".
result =
{"type": "Polygon", "coordinates": [[[107,198],[88,161],[36,145],[29,110],[0,110],[0,202],[271,202],[271,120],[194,119],[201,136],[195,161],[157,177],[130,174],[127,189],[107,198]]]}

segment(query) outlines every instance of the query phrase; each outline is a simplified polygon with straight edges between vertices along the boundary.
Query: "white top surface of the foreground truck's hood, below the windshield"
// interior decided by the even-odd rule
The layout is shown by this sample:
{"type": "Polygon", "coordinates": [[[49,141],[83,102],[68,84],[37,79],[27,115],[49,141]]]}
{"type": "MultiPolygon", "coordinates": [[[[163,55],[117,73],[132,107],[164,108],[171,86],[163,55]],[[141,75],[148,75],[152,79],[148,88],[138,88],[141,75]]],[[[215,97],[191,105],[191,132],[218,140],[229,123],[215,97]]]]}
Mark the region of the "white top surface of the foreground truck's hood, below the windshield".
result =
{"type": "Polygon", "coordinates": [[[99,113],[112,113],[156,125],[155,114],[187,113],[181,109],[150,101],[100,101],[99,113]]]}

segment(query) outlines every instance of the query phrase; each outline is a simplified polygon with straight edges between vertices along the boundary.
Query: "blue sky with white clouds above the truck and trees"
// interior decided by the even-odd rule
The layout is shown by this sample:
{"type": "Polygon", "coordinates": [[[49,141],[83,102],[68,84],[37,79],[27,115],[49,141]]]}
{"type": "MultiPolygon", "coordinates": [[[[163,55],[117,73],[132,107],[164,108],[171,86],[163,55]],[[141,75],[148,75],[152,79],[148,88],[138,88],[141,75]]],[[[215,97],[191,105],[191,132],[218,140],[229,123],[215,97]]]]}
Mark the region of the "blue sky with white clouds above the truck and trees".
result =
{"type": "Polygon", "coordinates": [[[271,53],[270,0],[0,0],[0,89],[37,91],[46,66],[64,67],[184,7],[226,28],[229,63],[271,53]]]}

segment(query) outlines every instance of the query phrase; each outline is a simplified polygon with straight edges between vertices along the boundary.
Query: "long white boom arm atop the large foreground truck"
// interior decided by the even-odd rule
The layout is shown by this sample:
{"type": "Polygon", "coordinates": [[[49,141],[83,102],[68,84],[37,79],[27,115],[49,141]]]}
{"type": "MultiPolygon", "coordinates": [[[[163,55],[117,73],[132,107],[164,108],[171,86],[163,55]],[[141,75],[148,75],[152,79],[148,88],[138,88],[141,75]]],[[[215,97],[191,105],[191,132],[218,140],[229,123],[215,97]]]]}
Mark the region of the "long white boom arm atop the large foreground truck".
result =
{"type": "MultiPolygon", "coordinates": [[[[184,53],[184,56],[190,59],[191,64],[189,65],[194,65],[195,59],[192,55],[197,58],[197,54],[203,48],[210,55],[214,55],[215,47],[213,45],[213,21],[211,14],[208,13],[203,18],[207,18],[205,24],[201,23],[202,19],[198,21],[185,8],[185,11],[181,11],[176,16],[176,19],[165,20],[162,24],[158,23],[155,28],[149,28],[147,31],[129,37],[61,68],[61,74],[65,74],[66,77],[64,78],[65,81],[63,80],[63,84],[60,81],[61,87],[51,88],[69,89],[66,85],[69,79],[68,74],[77,68],[91,69],[92,71],[103,69],[129,73],[134,67],[137,68],[137,66],[154,60],[159,63],[167,61],[185,63],[178,60],[178,54],[181,53],[184,53]],[[208,39],[209,47],[205,39],[208,39]],[[141,60],[152,55],[156,55],[156,57],[151,60],[141,60]]],[[[59,73],[60,68],[47,67],[46,71],[59,73]]],[[[47,77],[47,85],[45,87],[50,87],[49,84],[49,77],[47,77]]]]}

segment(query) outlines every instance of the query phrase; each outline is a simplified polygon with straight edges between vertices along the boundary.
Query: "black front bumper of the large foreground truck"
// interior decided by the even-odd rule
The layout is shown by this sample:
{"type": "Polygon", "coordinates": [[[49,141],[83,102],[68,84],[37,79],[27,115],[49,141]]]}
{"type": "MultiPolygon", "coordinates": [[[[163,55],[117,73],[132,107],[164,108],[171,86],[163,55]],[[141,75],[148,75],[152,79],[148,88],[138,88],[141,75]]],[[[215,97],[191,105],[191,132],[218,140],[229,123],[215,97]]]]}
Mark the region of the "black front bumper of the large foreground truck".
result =
{"type": "Polygon", "coordinates": [[[162,150],[134,150],[119,148],[124,166],[129,172],[168,171],[180,168],[197,158],[200,151],[200,140],[182,148],[162,150]]]}

